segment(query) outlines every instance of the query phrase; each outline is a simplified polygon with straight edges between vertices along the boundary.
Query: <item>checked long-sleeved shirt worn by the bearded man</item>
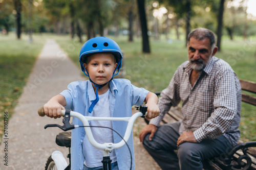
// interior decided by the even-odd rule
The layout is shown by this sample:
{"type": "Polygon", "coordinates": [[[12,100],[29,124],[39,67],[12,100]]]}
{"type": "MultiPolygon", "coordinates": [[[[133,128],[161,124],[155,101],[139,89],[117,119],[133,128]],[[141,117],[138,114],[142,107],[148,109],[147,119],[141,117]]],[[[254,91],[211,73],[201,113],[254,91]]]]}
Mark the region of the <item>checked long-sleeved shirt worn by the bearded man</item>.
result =
{"type": "Polygon", "coordinates": [[[225,61],[212,57],[192,87],[188,61],[176,70],[169,86],[161,92],[160,115],[150,124],[159,126],[171,106],[182,102],[179,133],[193,131],[198,142],[224,135],[232,145],[240,137],[241,86],[239,79],[225,61]]]}

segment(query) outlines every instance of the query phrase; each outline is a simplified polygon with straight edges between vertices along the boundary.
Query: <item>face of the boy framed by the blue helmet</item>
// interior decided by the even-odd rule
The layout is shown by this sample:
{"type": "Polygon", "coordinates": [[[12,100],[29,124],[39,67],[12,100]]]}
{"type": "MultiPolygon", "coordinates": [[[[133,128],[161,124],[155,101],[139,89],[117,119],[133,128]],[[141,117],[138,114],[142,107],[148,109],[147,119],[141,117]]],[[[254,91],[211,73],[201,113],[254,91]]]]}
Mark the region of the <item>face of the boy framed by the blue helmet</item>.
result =
{"type": "Polygon", "coordinates": [[[91,80],[96,84],[105,84],[110,81],[117,63],[111,54],[99,53],[88,58],[87,64],[83,64],[87,69],[91,80]]]}

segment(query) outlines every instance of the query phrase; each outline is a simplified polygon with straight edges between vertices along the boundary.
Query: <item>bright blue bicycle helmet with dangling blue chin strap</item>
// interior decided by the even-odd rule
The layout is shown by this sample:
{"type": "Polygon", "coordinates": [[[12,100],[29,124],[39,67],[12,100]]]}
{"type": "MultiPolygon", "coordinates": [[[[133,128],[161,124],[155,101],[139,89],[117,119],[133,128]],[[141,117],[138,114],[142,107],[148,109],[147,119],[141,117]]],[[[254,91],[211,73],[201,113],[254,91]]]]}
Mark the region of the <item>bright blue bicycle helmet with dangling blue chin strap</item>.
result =
{"type": "Polygon", "coordinates": [[[117,64],[116,69],[113,72],[112,79],[113,79],[114,76],[116,76],[118,74],[118,72],[121,68],[121,62],[122,62],[122,53],[121,53],[120,47],[114,40],[112,40],[110,38],[95,37],[95,38],[92,38],[92,39],[88,40],[81,47],[80,55],[79,55],[79,62],[80,62],[80,65],[81,65],[81,69],[82,69],[84,75],[88,76],[89,80],[94,84],[95,87],[97,87],[96,88],[96,99],[92,102],[92,104],[89,108],[90,113],[92,112],[96,103],[99,101],[98,88],[102,88],[103,86],[108,84],[108,82],[105,83],[105,84],[102,84],[102,85],[94,83],[91,80],[91,78],[88,74],[88,71],[83,66],[83,63],[86,62],[86,60],[89,56],[91,56],[93,54],[97,54],[97,53],[111,53],[111,54],[114,55],[114,57],[116,59],[116,63],[118,63],[118,64],[117,64]],[[115,74],[116,71],[117,71],[117,73],[115,74]]]}

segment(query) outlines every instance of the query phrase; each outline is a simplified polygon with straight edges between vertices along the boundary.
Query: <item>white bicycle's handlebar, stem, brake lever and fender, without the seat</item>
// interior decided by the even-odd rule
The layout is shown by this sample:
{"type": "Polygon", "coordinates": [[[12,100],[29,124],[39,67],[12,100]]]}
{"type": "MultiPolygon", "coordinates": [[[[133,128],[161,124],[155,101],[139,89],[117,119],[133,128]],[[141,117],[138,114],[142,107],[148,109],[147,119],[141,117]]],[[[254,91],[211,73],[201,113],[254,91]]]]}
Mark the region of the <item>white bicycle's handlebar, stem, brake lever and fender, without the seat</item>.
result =
{"type": "MultiPolygon", "coordinates": [[[[86,135],[88,137],[89,142],[93,145],[93,147],[100,149],[103,151],[103,170],[105,169],[111,169],[111,165],[110,165],[110,158],[109,158],[109,153],[112,152],[114,149],[118,149],[123,147],[126,144],[126,141],[129,140],[131,133],[132,133],[132,129],[133,129],[133,124],[135,122],[135,120],[138,117],[145,117],[146,116],[146,109],[147,107],[145,105],[141,105],[140,107],[137,107],[137,110],[139,110],[139,112],[133,114],[131,117],[92,117],[92,116],[83,116],[82,114],[75,112],[75,111],[66,111],[66,110],[61,110],[61,114],[62,116],[64,116],[62,122],[64,123],[63,126],[54,124],[54,125],[46,125],[45,129],[48,127],[59,127],[60,129],[67,131],[70,129],[74,129],[74,128],[79,128],[78,125],[70,125],[69,124],[69,120],[70,117],[76,117],[78,119],[81,120],[82,124],[85,126],[84,130],[86,131],[86,135]],[[118,143],[103,143],[100,144],[98,143],[92,134],[90,125],[89,125],[89,121],[91,120],[112,120],[112,121],[125,121],[128,122],[127,127],[126,127],[126,131],[124,134],[123,139],[118,142],[118,143]]],[[[40,116],[45,116],[44,113],[44,109],[40,108],[38,110],[38,114],[40,116]]],[[[56,151],[55,151],[56,152],[56,151]]],[[[65,160],[63,159],[63,155],[62,154],[58,154],[58,157],[54,160],[54,161],[58,161],[58,160],[65,160]]],[[[66,161],[66,160],[65,160],[66,161]]],[[[63,166],[60,166],[58,162],[55,162],[58,170],[62,169],[63,170],[63,166]]],[[[65,163],[66,164],[66,163],[65,163]]]]}

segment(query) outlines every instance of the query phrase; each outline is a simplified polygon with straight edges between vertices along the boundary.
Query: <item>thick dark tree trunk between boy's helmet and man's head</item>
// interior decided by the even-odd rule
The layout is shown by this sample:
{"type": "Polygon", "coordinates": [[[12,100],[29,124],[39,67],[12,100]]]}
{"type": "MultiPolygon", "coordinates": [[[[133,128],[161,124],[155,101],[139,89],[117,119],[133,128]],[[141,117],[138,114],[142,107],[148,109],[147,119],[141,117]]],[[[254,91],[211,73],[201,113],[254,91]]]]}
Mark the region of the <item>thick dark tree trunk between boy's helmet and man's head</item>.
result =
{"type": "Polygon", "coordinates": [[[140,15],[140,25],[142,32],[142,52],[150,53],[150,41],[147,35],[147,23],[146,23],[146,13],[145,13],[145,0],[137,0],[138,10],[140,15]]]}

